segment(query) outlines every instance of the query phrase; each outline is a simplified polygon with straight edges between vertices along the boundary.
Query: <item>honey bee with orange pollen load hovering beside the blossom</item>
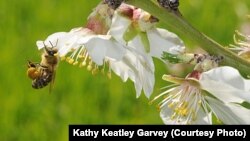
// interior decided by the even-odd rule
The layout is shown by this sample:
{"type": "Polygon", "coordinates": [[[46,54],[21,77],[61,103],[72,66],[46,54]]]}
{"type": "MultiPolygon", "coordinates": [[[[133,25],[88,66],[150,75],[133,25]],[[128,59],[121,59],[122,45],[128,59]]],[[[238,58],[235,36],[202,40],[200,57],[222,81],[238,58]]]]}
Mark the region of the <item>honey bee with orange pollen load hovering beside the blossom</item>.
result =
{"type": "MultiPolygon", "coordinates": [[[[51,42],[50,44],[52,45],[51,42]]],[[[32,79],[32,87],[34,89],[43,88],[50,83],[51,91],[59,60],[56,54],[57,49],[55,49],[53,45],[51,48],[48,48],[44,44],[44,52],[41,55],[41,62],[33,63],[28,61],[27,75],[30,79],[32,79]]]]}

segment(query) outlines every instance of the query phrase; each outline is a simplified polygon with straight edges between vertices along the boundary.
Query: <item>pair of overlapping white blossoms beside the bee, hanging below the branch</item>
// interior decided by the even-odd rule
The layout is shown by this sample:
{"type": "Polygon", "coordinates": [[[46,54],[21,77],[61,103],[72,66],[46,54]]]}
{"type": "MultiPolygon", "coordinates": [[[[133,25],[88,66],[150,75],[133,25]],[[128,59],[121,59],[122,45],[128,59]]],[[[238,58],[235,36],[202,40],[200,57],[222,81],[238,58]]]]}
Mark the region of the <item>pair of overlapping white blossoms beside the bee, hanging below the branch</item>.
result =
{"type": "Polygon", "coordinates": [[[184,49],[175,34],[156,28],[151,17],[130,5],[122,4],[113,11],[102,3],[90,14],[85,28],[54,33],[45,41],[37,41],[37,46],[42,49],[53,45],[62,59],[94,72],[106,65],[123,81],[129,78],[135,83],[137,97],[142,90],[149,97],[155,83],[152,57],[161,58],[163,51],[181,53],[184,49]]]}

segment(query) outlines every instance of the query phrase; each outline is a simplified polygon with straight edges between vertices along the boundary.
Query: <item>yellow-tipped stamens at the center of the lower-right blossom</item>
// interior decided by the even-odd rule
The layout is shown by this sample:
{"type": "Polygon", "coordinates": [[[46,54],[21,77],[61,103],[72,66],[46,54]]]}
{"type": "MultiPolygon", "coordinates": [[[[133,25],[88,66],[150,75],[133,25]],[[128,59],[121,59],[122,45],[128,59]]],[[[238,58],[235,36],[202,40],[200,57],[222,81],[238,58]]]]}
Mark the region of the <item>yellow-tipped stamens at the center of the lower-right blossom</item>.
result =
{"type": "Polygon", "coordinates": [[[164,105],[172,111],[171,120],[191,124],[197,118],[202,103],[202,94],[199,88],[184,82],[170,92],[164,101],[166,101],[164,105]]]}

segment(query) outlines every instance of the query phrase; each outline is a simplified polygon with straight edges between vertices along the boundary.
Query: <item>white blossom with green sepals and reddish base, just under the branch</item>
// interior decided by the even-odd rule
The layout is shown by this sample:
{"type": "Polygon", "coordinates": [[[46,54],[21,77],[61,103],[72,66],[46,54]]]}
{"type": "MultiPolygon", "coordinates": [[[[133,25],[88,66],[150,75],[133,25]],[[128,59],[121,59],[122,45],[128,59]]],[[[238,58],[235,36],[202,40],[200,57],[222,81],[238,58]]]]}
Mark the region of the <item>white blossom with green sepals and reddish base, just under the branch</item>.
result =
{"type": "Polygon", "coordinates": [[[165,29],[156,28],[157,19],[149,13],[126,4],[119,9],[114,13],[109,30],[109,34],[119,42],[159,59],[163,52],[184,52],[180,38],[165,29]]]}

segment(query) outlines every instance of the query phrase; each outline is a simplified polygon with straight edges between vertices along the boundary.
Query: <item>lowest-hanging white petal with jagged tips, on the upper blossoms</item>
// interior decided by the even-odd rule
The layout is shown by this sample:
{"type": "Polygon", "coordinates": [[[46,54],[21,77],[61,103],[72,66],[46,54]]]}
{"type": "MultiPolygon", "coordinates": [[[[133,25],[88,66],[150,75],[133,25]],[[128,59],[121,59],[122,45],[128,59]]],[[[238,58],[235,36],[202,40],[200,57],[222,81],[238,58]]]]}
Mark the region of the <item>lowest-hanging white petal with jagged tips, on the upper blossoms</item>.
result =
{"type": "Polygon", "coordinates": [[[138,52],[135,53],[135,50],[127,50],[121,61],[109,60],[110,66],[123,81],[130,78],[134,82],[137,97],[140,96],[142,89],[145,95],[149,97],[155,83],[154,70],[152,70],[154,67],[149,67],[147,59],[139,54],[138,52]]]}

